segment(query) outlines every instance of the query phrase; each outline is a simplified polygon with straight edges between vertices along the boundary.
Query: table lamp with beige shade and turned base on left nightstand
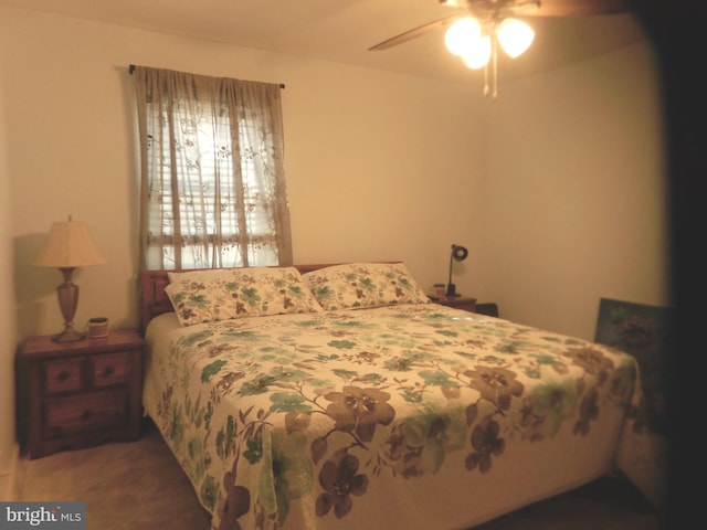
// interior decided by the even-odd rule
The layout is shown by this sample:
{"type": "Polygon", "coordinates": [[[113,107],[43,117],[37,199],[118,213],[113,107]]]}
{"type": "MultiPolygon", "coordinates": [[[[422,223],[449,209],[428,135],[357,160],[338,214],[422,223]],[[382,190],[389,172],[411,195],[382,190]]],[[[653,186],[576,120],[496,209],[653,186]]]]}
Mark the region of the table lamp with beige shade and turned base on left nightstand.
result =
{"type": "Polygon", "coordinates": [[[34,259],[34,265],[56,267],[64,275],[64,283],[56,287],[59,307],[64,316],[64,330],[52,337],[55,342],[73,342],[86,337],[74,329],[78,286],[71,277],[76,267],[103,263],[105,259],[93,242],[86,223],[72,221],[70,215],[68,221],[52,224],[46,243],[34,259]]]}

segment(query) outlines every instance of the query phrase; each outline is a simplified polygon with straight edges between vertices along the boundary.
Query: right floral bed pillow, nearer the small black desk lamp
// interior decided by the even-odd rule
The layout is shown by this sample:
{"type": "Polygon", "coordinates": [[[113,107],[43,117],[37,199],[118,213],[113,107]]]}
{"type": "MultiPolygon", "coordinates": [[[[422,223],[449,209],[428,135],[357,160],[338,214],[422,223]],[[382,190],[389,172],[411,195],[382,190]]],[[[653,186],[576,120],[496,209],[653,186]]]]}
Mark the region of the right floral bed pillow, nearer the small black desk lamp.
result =
{"type": "Polygon", "coordinates": [[[334,265],[303,278],[325,310],[430,301],[403,263],[334,265]]]}

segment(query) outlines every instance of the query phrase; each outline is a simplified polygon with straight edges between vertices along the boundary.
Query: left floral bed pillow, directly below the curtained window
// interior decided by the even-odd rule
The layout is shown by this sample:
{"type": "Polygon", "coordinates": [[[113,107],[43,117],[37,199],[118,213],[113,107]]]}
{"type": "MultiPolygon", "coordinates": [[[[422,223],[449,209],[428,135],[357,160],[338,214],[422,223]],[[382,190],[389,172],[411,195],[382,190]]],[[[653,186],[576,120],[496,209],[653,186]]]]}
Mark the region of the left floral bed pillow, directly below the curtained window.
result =
{"type": "Polygon", "coordinates": [[[247,267],[167,273],[165,292],[182,326],[242,317],[319,312],[294,267],[247,267]]]}

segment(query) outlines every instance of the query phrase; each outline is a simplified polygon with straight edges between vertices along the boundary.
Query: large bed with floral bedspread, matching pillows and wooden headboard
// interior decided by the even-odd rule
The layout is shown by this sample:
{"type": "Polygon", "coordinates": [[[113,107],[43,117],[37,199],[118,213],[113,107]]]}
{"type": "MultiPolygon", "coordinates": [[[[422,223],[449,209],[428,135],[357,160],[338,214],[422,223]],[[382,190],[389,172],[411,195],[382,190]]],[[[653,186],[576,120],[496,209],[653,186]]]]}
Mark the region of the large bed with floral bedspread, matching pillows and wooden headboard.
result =
{"type": "Polygon", "coordinates": [[[616,470],[656,488],[631,356],[434,304],[403,263],[141,290],[145,413],[214,530],[466,529],[616,470]]]}

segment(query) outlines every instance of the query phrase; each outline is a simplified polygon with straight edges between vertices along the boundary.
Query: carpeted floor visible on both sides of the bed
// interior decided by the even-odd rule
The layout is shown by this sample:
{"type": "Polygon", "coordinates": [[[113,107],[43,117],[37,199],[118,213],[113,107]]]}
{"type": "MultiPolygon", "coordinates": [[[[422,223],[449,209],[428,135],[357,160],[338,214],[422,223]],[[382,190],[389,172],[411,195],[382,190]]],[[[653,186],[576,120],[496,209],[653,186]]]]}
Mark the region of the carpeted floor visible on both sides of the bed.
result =
{"type": "MultiPolygon", "coordinates": [[[[88,530],[209,528],[208,513],[149,421],[138,442],[62,452],[34,460],[23,457],[17,497],[25,501],[86,501],[88,530]],[[160,494],[163,490],[169,495],[160,494]]],[[[659,528],[658,516],[626,480],[604,477],[474,530],[659,528]]]]}

